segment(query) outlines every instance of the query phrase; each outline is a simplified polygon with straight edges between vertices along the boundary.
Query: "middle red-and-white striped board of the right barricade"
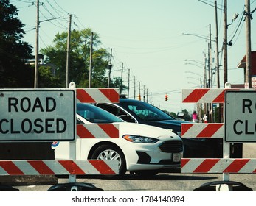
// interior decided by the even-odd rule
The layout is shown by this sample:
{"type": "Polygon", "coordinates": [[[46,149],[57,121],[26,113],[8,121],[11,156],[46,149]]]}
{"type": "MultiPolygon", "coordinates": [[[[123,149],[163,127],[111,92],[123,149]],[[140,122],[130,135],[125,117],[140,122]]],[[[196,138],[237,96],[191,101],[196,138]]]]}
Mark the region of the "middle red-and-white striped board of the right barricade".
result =
{"type": "Polygon", "coordinates": [[[182,138],[224,138],[224,123],[183,123],[182,138]]]}

